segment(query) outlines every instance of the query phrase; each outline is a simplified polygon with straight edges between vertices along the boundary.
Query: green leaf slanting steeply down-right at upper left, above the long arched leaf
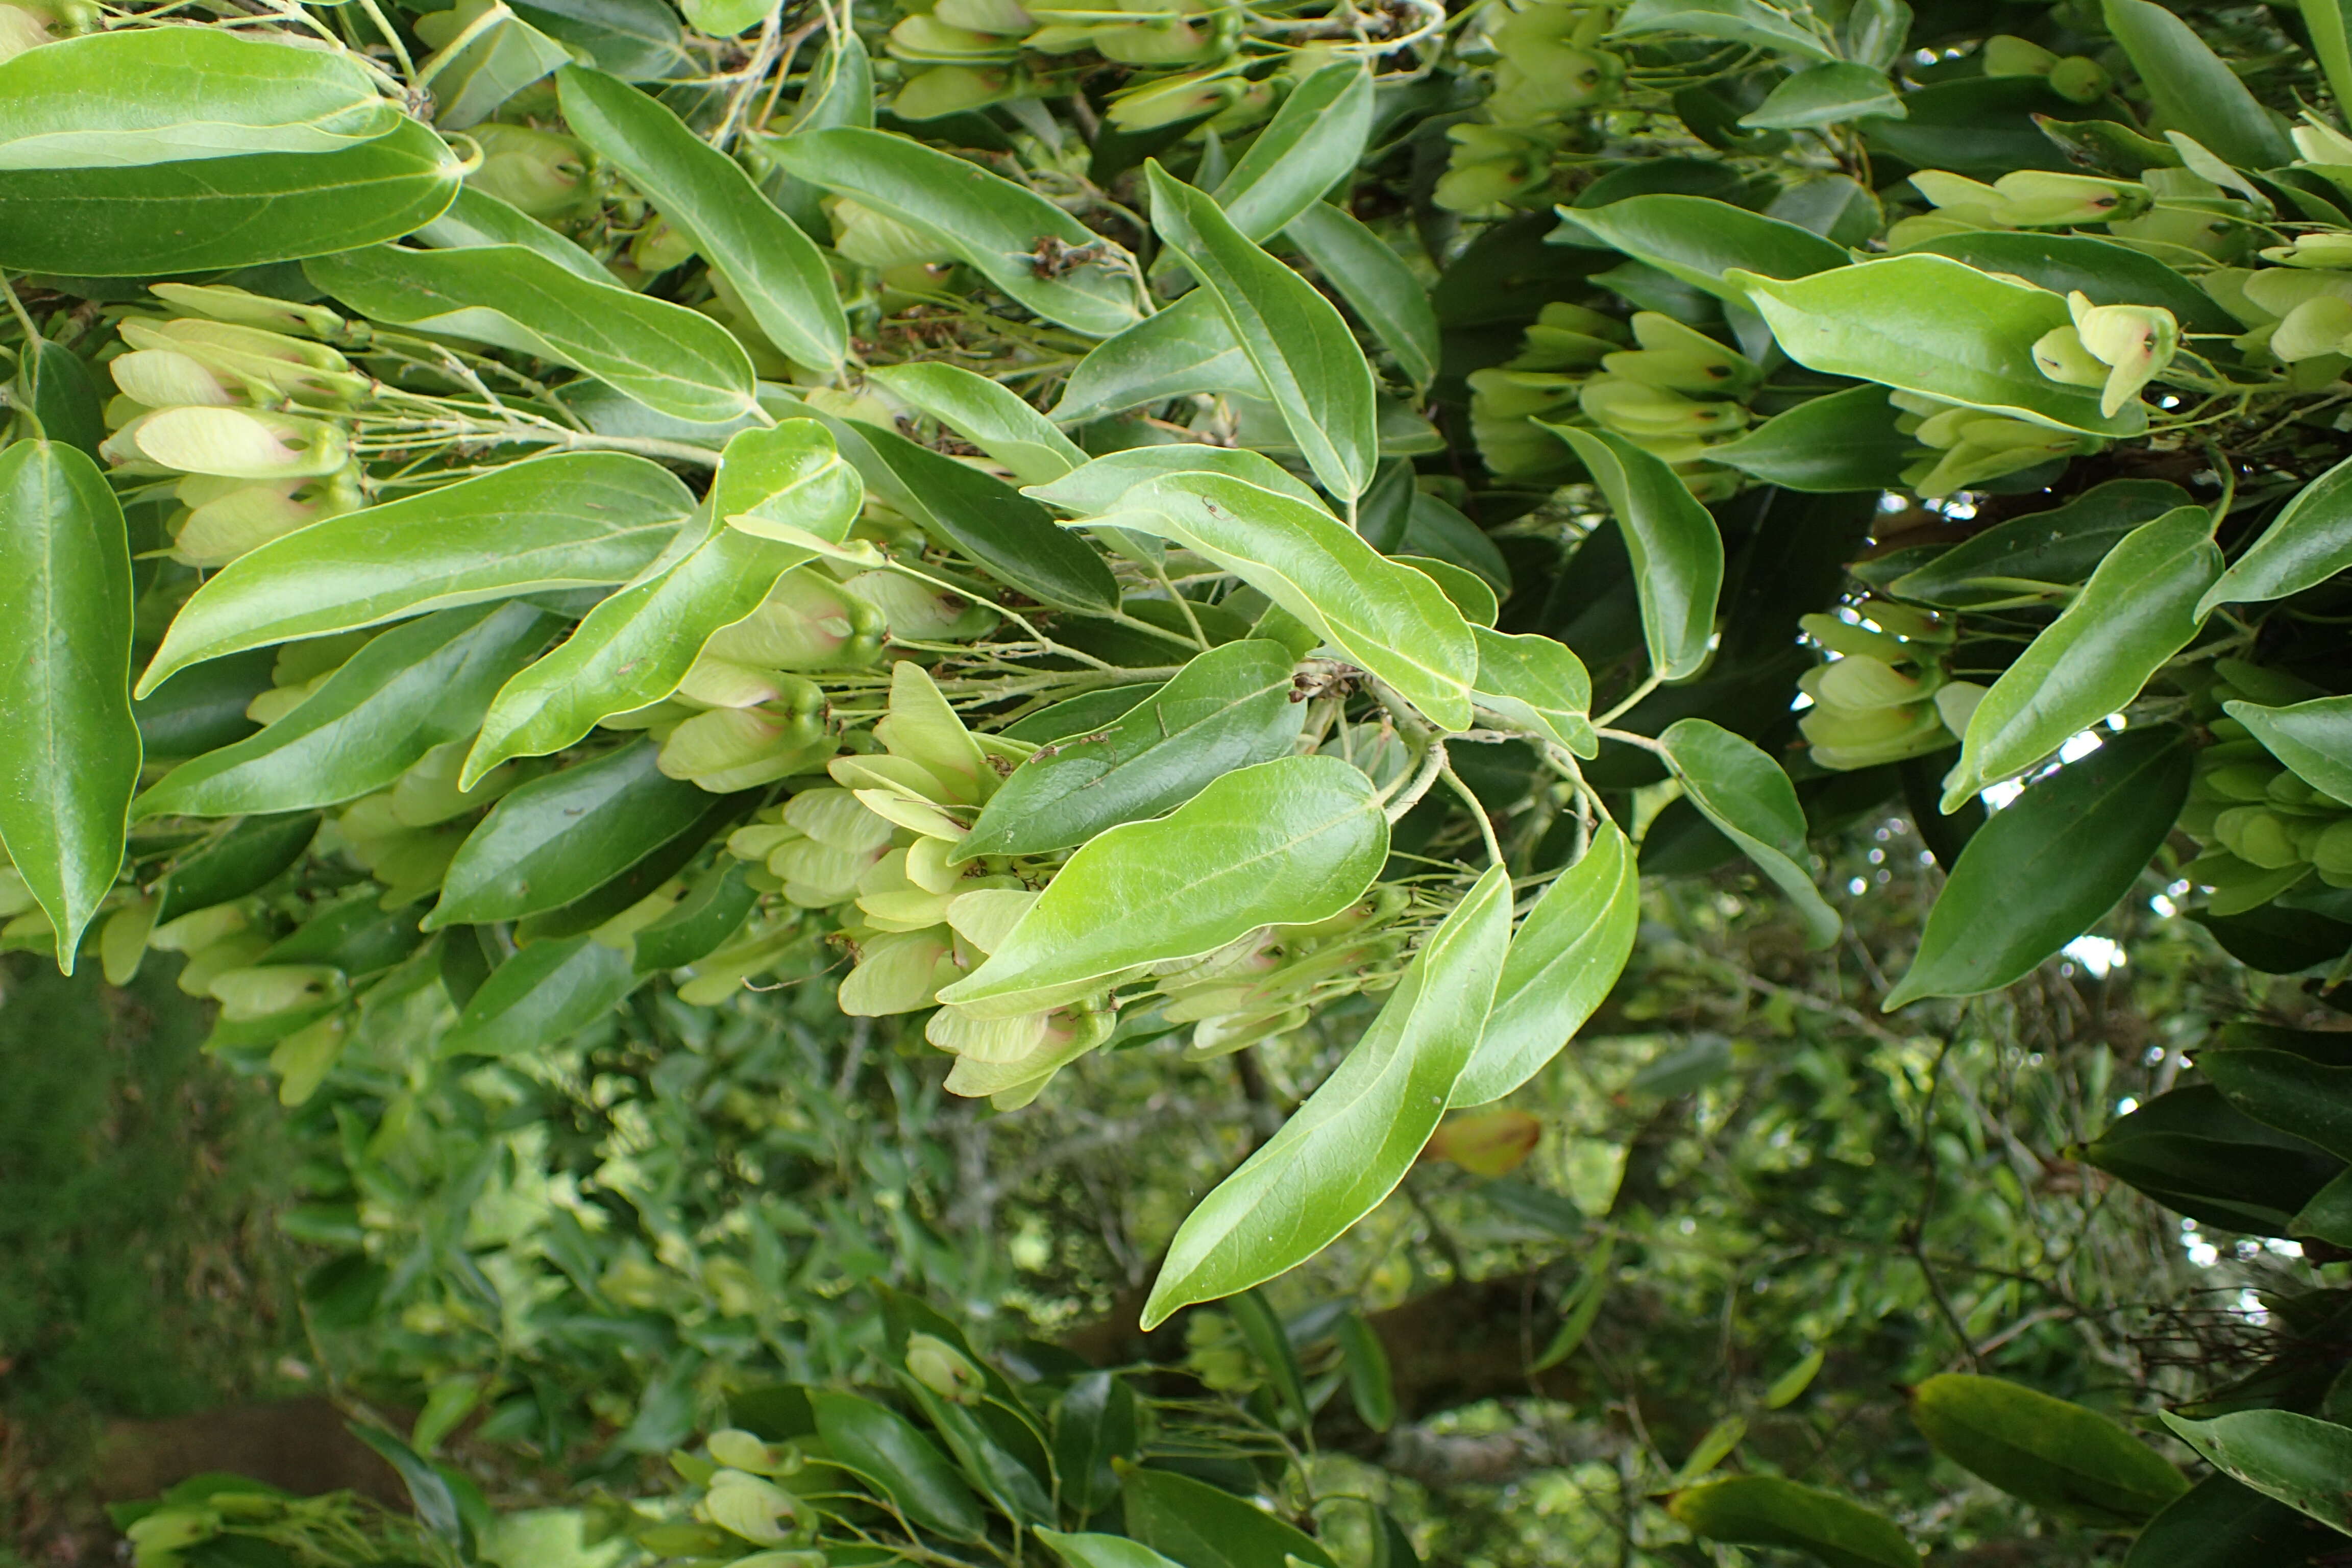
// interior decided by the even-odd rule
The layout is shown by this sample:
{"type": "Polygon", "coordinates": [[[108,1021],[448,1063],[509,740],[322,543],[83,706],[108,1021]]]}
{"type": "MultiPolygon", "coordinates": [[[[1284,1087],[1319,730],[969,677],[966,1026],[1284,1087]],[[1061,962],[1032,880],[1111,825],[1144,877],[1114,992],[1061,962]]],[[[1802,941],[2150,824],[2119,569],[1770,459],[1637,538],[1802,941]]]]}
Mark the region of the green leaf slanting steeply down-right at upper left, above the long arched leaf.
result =
{"type": "Polygon", "coordinates": [[[837,371],[849,353],[849,320],[833,268],[816,242],[760,195],[743,167],[628,82],[564,66],[555,85],[572,134],[621,169],[734,284],[767,341],[797,364],[837,371]]]}

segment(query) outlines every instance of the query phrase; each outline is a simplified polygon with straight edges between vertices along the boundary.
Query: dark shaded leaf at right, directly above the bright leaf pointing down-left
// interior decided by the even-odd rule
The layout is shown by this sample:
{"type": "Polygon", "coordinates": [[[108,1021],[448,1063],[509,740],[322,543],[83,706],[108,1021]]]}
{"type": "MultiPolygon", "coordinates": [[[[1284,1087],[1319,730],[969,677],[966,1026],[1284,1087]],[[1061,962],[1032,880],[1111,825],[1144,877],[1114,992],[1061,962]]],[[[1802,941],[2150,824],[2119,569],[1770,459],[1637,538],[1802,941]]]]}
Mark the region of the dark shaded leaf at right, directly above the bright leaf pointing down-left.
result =
{"type": "Polygon", "coordinates": [[[1964,538],[1898,576],[1889,592],[1945,609],[2034,602],[2086,581],[2126,534],[2183,505],[2190,494],[2169,480],[2107,480],[2065,505],[1964,538]]]}

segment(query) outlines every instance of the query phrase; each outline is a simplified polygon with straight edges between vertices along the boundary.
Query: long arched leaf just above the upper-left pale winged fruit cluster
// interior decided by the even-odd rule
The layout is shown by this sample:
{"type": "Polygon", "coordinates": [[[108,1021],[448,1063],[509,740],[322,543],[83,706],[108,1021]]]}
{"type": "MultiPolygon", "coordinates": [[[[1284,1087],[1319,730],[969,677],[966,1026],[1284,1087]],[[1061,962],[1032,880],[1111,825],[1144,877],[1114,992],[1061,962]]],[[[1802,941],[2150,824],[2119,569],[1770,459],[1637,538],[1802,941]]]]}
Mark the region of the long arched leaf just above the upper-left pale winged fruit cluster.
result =
{"type": "Polygon", "coordinates": [[[590,282],[520,244],[376,244],[303,273],[360,315],[555,360],[656,414],[717,423],[755,407],[750,357],[708,315],[590,282]]]}

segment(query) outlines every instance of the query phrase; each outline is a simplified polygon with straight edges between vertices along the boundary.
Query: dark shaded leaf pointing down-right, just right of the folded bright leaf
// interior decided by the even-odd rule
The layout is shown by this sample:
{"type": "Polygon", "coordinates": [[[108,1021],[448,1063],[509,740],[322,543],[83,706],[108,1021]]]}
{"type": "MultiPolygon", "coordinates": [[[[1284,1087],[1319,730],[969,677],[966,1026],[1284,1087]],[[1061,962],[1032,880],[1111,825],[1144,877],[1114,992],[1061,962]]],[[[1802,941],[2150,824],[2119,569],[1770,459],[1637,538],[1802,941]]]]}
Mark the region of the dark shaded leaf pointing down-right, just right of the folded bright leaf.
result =
{"type": "Polygon", "coordinates": [[[1056,527],[1037,501],[896,430],[854,418],[842,425],[856,435],[842,442],[842,456],[856,463],[868,489],[1000,583],[1063,609],[1108,614],[1120,607],[1120,581],[1103,557],[1056,527]]]}

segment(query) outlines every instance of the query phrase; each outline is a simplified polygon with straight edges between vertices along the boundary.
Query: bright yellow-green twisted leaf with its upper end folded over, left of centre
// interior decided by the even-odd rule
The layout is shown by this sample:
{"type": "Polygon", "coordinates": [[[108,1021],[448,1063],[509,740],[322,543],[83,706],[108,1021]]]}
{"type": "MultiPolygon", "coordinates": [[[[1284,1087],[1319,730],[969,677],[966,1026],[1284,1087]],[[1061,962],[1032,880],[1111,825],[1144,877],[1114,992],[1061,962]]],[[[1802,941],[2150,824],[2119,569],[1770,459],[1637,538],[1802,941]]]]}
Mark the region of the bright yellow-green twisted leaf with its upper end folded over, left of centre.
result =
{"type": "Polygon", "coordinates": [[[793,418],[736,435],[720,456],[701,543],[600,602],[560,649],[506,682],[459,785],[470,790],[508,757],[560,752],[602,719],[670,696],[720,628],[760,609],[776,578],[811,559],[727,517],[769,515],[840,543],[863,498],[823,425],[793,418]]]}

